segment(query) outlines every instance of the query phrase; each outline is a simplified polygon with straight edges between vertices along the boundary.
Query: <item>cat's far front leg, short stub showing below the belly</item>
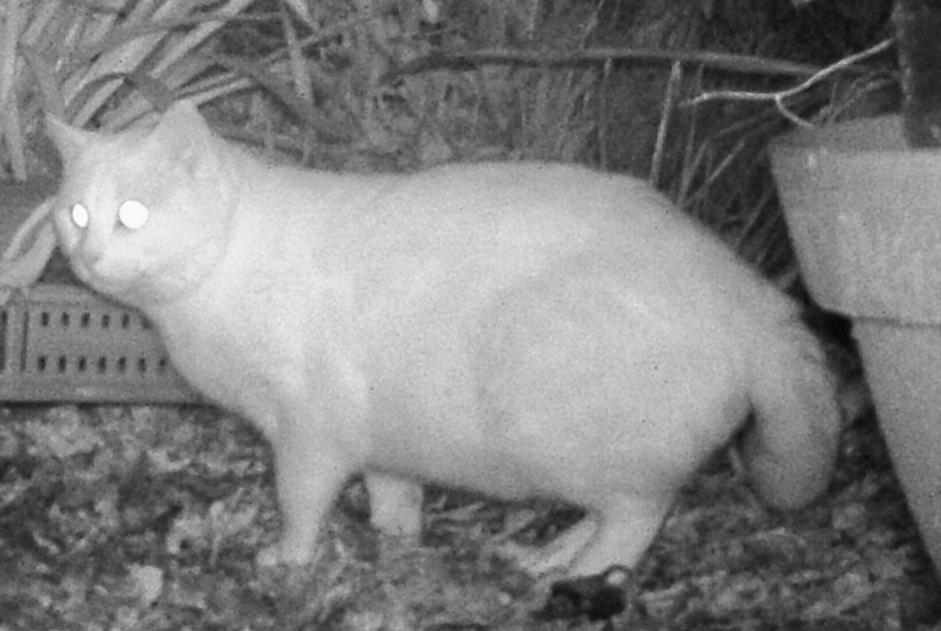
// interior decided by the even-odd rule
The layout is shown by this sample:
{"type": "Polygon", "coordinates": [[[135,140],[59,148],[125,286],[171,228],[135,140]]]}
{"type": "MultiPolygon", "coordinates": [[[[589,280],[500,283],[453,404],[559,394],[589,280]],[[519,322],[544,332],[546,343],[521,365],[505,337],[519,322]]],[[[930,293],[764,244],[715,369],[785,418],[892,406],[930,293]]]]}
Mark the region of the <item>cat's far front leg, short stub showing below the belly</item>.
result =
{"type": "Polygon", "coordinates": [[[366,490],[369,492],[369,521],[374,528],[393,537],[417,539],[421,535],[420,484],[381,473],[368,473],[366,490]]]}

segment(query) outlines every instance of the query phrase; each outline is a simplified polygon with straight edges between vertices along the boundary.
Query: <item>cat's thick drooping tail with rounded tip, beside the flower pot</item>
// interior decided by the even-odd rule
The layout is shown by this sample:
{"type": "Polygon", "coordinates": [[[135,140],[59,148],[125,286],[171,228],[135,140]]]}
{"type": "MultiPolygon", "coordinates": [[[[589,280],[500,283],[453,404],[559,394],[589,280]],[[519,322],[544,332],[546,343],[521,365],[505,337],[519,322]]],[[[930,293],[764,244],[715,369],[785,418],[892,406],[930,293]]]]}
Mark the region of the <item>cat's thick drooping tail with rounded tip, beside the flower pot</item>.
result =
{"type": "Polygon", "coordinates": [[[796,315],[760,332],[750,353],[754,425],[744,457],[758,494],[798,508],[826,490],[836,460],[841,410],[835,375],[796,315]]]}

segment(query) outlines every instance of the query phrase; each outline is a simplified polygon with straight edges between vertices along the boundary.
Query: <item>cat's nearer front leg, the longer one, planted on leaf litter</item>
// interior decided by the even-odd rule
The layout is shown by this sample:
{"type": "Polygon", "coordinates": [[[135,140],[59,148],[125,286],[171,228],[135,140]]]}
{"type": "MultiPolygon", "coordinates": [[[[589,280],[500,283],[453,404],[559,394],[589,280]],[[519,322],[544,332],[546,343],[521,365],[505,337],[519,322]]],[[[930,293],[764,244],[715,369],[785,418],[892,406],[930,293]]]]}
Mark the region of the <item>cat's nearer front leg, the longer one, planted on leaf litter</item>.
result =
{"type": "Polygon", "coordinates": [[[281,538],[259,551],[259,567],[314,560],[321,522],[351,473],[347,459],[310,439],[282,423],[272,441],[281,538]]]}

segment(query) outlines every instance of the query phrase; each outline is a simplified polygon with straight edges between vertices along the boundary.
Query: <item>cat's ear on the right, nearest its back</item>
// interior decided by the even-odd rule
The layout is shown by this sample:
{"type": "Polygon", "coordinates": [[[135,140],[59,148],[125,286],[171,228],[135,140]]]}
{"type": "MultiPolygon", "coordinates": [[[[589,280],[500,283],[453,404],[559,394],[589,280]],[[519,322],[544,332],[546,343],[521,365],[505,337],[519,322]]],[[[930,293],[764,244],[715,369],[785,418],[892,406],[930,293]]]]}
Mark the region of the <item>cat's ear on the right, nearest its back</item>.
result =
{"type": "Polygon", "coordinates": [[[169,164],[191,175],[207,175],[215,165],[212,129],[191,101],[177,101],[170,106],[148,141],[169,164]]]}

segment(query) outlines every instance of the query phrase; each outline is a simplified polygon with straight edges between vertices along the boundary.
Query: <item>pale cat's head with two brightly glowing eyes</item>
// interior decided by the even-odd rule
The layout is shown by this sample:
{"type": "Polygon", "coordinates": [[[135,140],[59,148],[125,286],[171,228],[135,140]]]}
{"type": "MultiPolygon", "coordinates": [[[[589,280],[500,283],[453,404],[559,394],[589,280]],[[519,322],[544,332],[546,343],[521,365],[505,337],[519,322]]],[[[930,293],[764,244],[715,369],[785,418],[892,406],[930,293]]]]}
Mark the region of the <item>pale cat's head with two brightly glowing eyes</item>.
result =
{"type": "Polygon", "coordinates": [[[156,126],[107,134],[47,120],[63,179],[53,211],[72,269],[131,304],[166,302],[218,265],[237,178],[226,145],[181,101],[156,126]]]}

